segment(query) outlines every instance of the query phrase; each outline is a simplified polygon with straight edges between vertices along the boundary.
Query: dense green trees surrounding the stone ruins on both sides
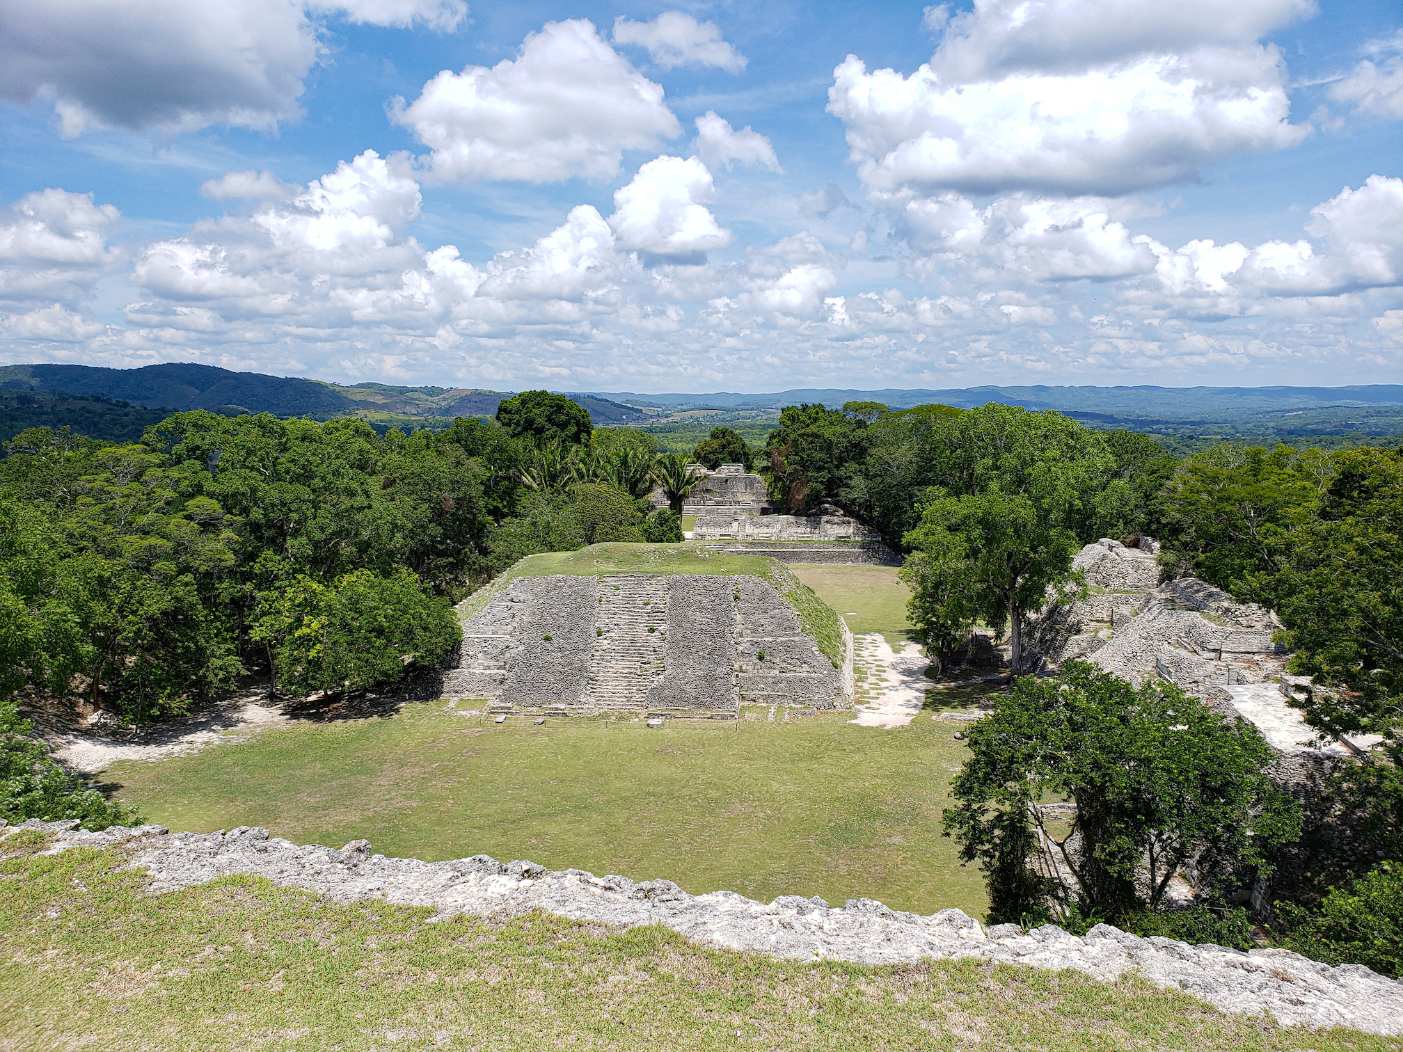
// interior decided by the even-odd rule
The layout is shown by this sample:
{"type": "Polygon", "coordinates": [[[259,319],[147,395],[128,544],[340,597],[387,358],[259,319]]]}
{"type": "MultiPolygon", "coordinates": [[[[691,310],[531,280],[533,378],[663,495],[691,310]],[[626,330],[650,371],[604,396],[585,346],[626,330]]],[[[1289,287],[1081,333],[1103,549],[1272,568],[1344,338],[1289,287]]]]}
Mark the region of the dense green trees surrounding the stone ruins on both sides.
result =
{"type": "MultiPolygon", "coordinates": [[[[380,435],[358,419],[208,411],[173,414],[128,443],[34,428],[6,443],[0,460],[0,689],[11,699],[66,697],[128,722],[198,707],[246,676],[271,677],[286,693],[384,689],[438,665],[460,637],[452,605],[521,557],[602,540],[680,540],[682,504],[702,484],[687,467],[693,459],[758,470],[791,513],[836,505],[878,530],[905,553],[912,620],[936,659],[981,624],[1009,637],[1013,669],[1024,670],[1023,627],[1049,593],[1085,595],[1072,558],[1103,536],[1157,537],[1166,576],[1200,576],[1277,609],[1295,670],[1319,687],[1308,720],[1324,734],[1383,736],[1326,787],[1334,814],[1367,846],[1351,857],[1367,861],[1341,864],[1306,844],[1308,893],[1296,909],[1319,909],[1291,915],[1288,903],[1281,916],[1295,917],[1301,945],[1323,959],[1372,954],[1374,966],[1396,971],[1397,910],[1371,908],[1374,934],[1358,936],[1350,902],[1399,895],[1389,867],[1400,857],[1403,801],[1397,449],[1222,443],[1180,459],[1146,435],[1089,429],[1052,411],[847,403],[784,408],[763,445],[714,428],[686,457],[659,454],[643,431],[595,429],[577,403],[544,391],[504,400],[487,422],[460,418],[412,433],[380,435]],[[655,487],[669,509],[644,499],[655,487]],[[1358,893],[1354,881],[1362,881],[1358,893]],[[1344,898],[1331,899],[1330,888],[1344,898]],[[1345,919],[1330,922],[1331,909],[1345,919]],[[1360,938],[1374,950],[1340,950],[1360,938]]],[[[1172,687],[1136,693],[1086,670],[1070,675],[1062,693],[1017,682],[999,710],[999,743],[995,720],[979,731],[986,741],[975,735],[985,774],[967,764],[957,783],[964,809],[947,815],[968,860],[986,868],[991,888],[1003,888],[1003,919],[1037,916],[1048,893],[1019,877],[1028,830],[1017,794],[1031,783],[1030,760],[1009,760],[1012,743],[1070,742],[1103,728],[1099,739],[1121,745],[1087,756],[1114,766],[1110,752],[1134,755],[1166,728],[1180,731],[1166,721],[1197,704],[1172,687]],[[1111,727],[1129,728],[1124,741],[1111,727]],[[1005,750],[1003,760],[986,749],[1005,750]],[[1000,781],[1005,762],[1024,774],[1000,781]]],[[[20,742],[13,700],[6,720],[0,734],[20,742]]],[[[1194,843],[1216,844],[1214,886],[1228,895],[1244,867],[1270,871],[1273,844],[1301,836],[1292,805],[1251,774],[1270,766],[1263,750],[1211,720],[1180,722],[1188,729],[1179,741],[1197,742],[1184,756],[1200,766],[1159,770],[1146,759],[1139,788],[1117,783],[1128,809],[1103,816],[1107,843],[1120,846],[1087,877],[1086,886],[1101,891],[1076,903],[1089,920],[1163,915],[1153,893],[1136,891],[1131,870],[1142,849],[1129,846],[1173,842],[1167,857],[1179,858],[1173,851],[1194,843]],[[1222,770],[1244,771],[1232,778],[1236,795],[1225,795],[1222,770]],[[1197,795],[1174,808],[1145,802],[1187,785],[1197,795]],[[1160,815],[1160,825],[1142,829],[1146,815],[1160,815]],[[1256,833],[1244,840],[1246,816],[1256,833]]],[[[43,774],[32,750],[20,756],[18,748],[11,770],[43,774]]],[[[1044,763],[1047,750],[1035,752],[1044,763]]],[[[1048,762],[1044,777],[1048,791],[1076,797],[1103,773],[1048,762]]],[[[95,794],[43,777],[48,788],[11,793],[29,802],[7,804],[7,816],[67,807],[101,819],[95,794]]],[[[1222,908],[1240,917],[1228,899],[1222,908]]],[[[1198,934],[1240,938],[1221,917],[1195,923],[1207,924],[1198,934]]]]}

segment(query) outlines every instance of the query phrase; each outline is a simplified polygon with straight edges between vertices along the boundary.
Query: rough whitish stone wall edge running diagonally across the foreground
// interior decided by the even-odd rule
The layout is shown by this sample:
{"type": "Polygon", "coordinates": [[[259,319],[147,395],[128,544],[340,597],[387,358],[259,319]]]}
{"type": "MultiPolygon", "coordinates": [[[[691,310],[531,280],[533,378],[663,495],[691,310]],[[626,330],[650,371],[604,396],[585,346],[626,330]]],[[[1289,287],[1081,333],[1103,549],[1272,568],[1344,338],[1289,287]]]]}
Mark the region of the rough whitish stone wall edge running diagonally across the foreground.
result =
{"type": "Polygon", "coordinates": [[[163,826],[102,833],[72,822],[27,822],[55,835],[51,851],[72,846],[126,844],[130,865],[152,877],[152,891],[173,892],[229,874],[253,874],[303,888],[333,902],[429,906],[439,916],[518,916],[535,909],[574,920],[634,927],[665,924],[717,950],[759,952],[788,961],[902,964],[975,958],[1031,968],[1073,968],[1101,980],[1139,975],[1232,1013],[1271,1013],[1281,1024],[1352,1027],[1403,1034],[1403,983],[1362,965],[1329,965],[1287,950],[1242,952],[1139,938],[1108,924],[1085,937],[1054,924],[1024,933],[1017,924],[985,927],[957,909],[932,916],[849,899],[838,909],[818,898],[781,895],[770,903],[735,892],[689,895],[672,881],[641,884],[584,870],[547,871],[530,861],[502,864],[484,854],[445,863],[386,858],[366,840],[340,851],[297,846],[241,826],[219,833],[167,835],[163,826]]]}

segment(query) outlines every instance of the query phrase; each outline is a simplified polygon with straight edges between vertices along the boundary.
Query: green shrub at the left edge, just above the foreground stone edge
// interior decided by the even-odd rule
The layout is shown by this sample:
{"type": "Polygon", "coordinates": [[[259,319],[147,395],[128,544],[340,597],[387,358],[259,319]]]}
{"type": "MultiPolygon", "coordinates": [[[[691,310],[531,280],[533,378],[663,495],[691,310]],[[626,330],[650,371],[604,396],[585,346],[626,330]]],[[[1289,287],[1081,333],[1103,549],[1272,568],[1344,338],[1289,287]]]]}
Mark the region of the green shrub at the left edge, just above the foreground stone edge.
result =
{"type": "Polygon", "coordinates": [[[20,718],[15,701],[0,701],[0,818],[11,823],[31,818],[45,822],[76,818],[84,829],[135,823],[135,811],[86,788],[29,736],[32,731],[34,725],[20,718]]]}

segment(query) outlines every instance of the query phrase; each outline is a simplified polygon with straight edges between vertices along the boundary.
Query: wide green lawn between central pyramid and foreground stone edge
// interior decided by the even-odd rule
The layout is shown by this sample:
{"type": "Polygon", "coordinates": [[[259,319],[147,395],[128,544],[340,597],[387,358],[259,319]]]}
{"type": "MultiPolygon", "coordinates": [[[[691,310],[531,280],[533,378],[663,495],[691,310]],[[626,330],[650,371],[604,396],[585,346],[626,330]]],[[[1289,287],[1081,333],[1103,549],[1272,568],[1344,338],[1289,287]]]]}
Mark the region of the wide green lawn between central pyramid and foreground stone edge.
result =
{"type": "Polygon", "coordinates": [[[484,851],[689,892],[763,902],[870,896],[932,913],[986,908],[978,870],[955,861],[940,809],[965,746],[953,728],[852,727],[846,714],[784,722],[397,715],[297,722],[192,756],[123,762],[101,777],[149,822],[208,832],[267,826],[297,843],[427,860],[484,851]]]}

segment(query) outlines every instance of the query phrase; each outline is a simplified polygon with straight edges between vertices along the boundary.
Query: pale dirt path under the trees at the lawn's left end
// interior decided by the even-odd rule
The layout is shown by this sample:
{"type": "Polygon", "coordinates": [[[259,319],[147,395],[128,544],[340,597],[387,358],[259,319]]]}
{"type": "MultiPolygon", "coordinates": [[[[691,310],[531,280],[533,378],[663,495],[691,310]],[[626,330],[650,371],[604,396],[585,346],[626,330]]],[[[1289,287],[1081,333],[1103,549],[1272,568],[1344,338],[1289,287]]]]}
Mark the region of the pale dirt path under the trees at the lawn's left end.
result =
{"type": "Polygon", "coordinates": [[[267,704],[262,692],[236,694],[212,710],[173,720],[130,736],[59,732],[48,735],[55,759],[70,770],[95,774],[118,760],[164,760],[206,749],[216,742],[239,742],[250,734],[289,722],[281,707],[267,704]]]}

